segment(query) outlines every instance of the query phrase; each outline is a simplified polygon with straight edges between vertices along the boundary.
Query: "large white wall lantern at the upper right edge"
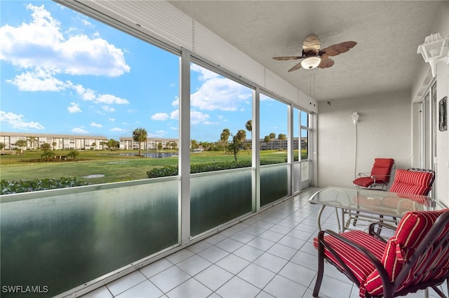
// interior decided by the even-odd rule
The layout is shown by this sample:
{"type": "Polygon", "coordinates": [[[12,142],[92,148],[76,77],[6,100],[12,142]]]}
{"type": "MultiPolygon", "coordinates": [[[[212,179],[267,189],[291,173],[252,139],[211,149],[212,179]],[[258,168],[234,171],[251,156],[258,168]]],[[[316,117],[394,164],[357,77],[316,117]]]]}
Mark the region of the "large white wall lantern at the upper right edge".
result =
{"type": "MultiPolygon", "coordinates": [[[[431,34],[418,46],[417,54],[421,54],[425,62],[429,62],[432,77],[436,76],[436,62],[448,54],[449,38],[441,38],[439,33],[431,34]]],[[[449,58],[448,58],[449,61],[449,58]]]]}

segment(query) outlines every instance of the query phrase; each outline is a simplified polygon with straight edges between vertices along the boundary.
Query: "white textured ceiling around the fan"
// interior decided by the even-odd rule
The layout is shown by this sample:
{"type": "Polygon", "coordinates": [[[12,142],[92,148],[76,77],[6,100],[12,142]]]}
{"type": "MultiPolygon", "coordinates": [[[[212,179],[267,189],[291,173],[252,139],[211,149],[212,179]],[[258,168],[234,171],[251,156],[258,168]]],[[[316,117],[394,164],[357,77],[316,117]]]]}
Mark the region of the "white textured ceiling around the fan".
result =
{"type": "Polygon", "coordinates": [[[309,70],[275,56],[301,55],[309,34],[321,48],[357,45],[315,69],[315,97],[328,101],[410,90],[424,65],[417,46],[449,10],[449,1],[170,1],[284,80],[310,93],[309,70]]]}

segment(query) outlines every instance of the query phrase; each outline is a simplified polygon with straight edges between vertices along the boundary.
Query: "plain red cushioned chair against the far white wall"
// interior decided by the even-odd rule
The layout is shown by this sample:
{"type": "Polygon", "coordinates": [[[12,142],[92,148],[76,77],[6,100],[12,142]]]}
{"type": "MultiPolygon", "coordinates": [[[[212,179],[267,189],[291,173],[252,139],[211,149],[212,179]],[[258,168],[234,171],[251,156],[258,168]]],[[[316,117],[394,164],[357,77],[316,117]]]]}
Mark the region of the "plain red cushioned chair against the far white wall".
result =
{"type": "Polygon", "coordinates": [[[394,159],[375,158],[371,173],[358,173],[359,178],[356,178],[352,183],[357,187],[382,187],[383,190],[387,190],[393,165],[394,159]]]}

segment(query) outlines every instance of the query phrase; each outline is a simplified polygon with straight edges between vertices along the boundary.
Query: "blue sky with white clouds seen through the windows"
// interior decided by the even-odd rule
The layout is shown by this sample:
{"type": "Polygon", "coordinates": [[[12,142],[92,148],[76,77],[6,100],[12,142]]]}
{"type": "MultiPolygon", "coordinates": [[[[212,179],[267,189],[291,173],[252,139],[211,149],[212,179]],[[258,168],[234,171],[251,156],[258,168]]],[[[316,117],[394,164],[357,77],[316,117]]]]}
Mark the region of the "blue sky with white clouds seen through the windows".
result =
{"type": "MultiPolygon", "coordinates": [[[[2,0],[0,10],[0,132],[118,141],[144,128],[178,138],[177,55],[53,1],[2,0]]],[[[252,90],[196,64],[190,100],[196,141],[251,119],[252,90]]],[[[287,134],[286,115],[286,104],[261,96],[260,137],[287,134]]]]}

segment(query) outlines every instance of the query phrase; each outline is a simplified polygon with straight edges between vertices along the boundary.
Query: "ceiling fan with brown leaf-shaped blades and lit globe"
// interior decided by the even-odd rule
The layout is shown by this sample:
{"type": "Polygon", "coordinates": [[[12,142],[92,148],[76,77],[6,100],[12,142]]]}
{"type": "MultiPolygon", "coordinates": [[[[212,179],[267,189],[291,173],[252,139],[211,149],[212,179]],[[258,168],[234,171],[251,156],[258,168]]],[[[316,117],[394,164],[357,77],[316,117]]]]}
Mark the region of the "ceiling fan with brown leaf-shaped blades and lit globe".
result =
{"type": "Polygon", "coordinates": [[[302,43],[302,56],[273,57],[273,59],[284,61],[304,59],[289,69],[288,72],[295,71],[301,67],[304,69],[314,69],[315,67],[326,69],[334,65],[334,60],[329,57],[347,52],[349,49],[354,48],[354,45],[356,44],[357,43],[355,41],[344,41],[343,43],[330,45],[327,48],[320,50],[321,44],[318,36],[311,34],[307,36],[302,43]]]}

